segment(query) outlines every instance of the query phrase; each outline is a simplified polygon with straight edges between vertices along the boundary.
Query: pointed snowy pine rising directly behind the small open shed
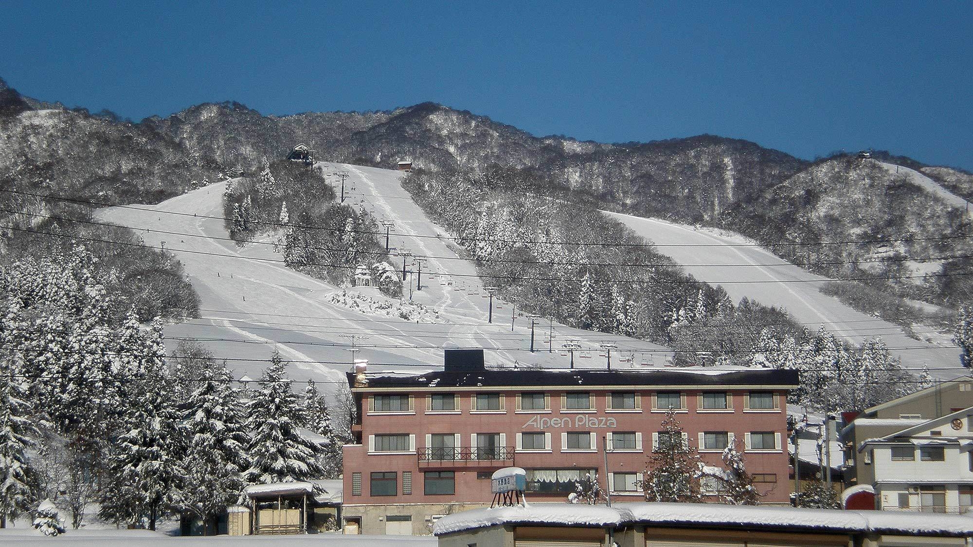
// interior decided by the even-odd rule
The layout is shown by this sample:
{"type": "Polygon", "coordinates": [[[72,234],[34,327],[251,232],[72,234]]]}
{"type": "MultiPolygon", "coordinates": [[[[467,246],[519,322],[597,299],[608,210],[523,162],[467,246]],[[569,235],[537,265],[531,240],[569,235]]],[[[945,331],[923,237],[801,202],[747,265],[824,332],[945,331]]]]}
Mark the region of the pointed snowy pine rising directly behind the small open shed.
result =
{"type": "Polygon", "coordinates": [[[278,351],[270,356],[270,367],[259,383],[246,422],[251,458],[244,473],[247,482],[269,484],[322,477],[324,469],[316,459],[320,448],[298,431],[303,413],[284,377],[284,361],[278,351]]]}

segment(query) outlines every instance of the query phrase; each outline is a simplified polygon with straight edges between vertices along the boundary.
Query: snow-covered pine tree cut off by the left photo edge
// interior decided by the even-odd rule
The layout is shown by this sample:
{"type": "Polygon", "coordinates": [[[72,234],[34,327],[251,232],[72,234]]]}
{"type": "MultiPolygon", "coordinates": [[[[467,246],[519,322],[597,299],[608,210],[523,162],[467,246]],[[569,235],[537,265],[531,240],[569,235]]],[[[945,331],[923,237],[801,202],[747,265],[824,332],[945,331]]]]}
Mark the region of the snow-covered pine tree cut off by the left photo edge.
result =
{"type": "Polygon", "coordinates": [[[22,361],[18,354],[4,356],[6,375],[0,376],[0,528],[7,518],[30,510],[34,502],[37,472],[27,451],[39,436],[31,420],[27,391],[17,375],[22,361]]]}

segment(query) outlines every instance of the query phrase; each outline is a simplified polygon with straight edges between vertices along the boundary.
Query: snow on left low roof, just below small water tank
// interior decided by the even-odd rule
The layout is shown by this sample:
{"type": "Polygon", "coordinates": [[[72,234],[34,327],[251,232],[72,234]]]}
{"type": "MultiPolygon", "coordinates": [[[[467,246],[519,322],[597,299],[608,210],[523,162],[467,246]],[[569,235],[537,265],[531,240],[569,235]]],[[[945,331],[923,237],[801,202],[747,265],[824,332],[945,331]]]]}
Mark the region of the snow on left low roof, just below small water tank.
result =
{"type": "Polygon", "coordinates": [[[622,522],[621,513],[604,505],[535,503],[528,507],[490,507],[453,513],[437,521],[433,533],[442,535],[464,529],[516,524],[614,527],[622,522]]]}

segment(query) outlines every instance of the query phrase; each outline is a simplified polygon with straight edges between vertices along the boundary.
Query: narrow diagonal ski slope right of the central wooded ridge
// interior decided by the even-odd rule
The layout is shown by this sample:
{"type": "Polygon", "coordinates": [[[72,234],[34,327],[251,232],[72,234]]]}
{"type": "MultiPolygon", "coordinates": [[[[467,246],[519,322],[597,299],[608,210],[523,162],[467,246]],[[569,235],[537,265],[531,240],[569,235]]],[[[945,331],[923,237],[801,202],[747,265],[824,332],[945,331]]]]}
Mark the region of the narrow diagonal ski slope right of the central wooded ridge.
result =
{"type": "Polygon", "coordinates": [[[747,297],[766,306],[786,308],[795,320],[805,323],[811,331],[823,325],[836,336],[855,344],[865,338],[881,336],[890,348],[900,348],[893,349],[892,353],[901,358],[906,368],[921,369],[927,365],[930,374],[943,379],[961,375],[962,371],[957,370],[935,370],[959,366],[958,349],[937,347],[952,345],[948,338],[934,338],[935,344],[919,342],[895,324],[853,310],[817,290],[821,283],[816,281],[826,281],[826,277],[798,268],[763,247],[739,246],[752,242],[744,237],[655,218],[606,214],[639,236],[661,245],[659,251],[682,265],[687,273],[721,285],[734,302],[747,297]]]}

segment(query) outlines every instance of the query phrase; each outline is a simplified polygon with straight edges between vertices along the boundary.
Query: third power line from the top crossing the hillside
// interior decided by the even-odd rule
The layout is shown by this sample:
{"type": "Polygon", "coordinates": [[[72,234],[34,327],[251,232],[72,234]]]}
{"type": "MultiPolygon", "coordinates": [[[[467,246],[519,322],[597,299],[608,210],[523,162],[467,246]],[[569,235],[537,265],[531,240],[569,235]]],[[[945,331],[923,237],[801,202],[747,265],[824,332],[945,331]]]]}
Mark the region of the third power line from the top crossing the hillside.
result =
{"type": "MultiPolygon", "coordinates": [[[[128,242],[128,241],[112,241],[110,239],[100,239],[100,238],[97,238],[97,237],[83,237],[83,236],[72,236],[72,235],[67,235],[67,234],[56,234],[56,233],[53,233],[53,232],[41,232],[41,231],[37,231],[37,230],[28,230],[28,229],[25,229],[25,228],[15,228],[13,226],[3,226],[3,225],[0,225],[0,229],[14,230],[16,232],[25,232],[25,233],[29,233],[29,234],[38,234],[38,235],[43,235],[43,236],[68,237],[68,238],[80,239],[80,240],[85,240],[85,241],[93,241],[93,242],[100,242],[100,243],[112,243],[112,244],[126,245],[126,246],[134,246],[134,247],[146,247],[147,246],[147,245],[145,245],[143,243],[131,243],[131,242],[128,242]]],[[[235,259],[243,259],[243,260],[254,260],[254,261],[258,261],[258,262],[270,262],[270,263],[276,263],[276,264],[283,264],[285,266],[288,264],[287,261],[285,261],[285,260],[278,260],[278,259],[272,259],[272,258],[251,257],[251,256],[242,256],[242,255],[229,255],[229,254],[212,253],[212,252],[206,252],[206,251],[194,251],[194,250],[190,250],[190,249],[172,248],[171,246],[169,247],[169,250],[170,251],[179,251],[179,252],[184,252],[184,253],[189,253],[189,254],[198,254],[198,255],[206,255],[206,256],[217,256],[217,257],[235,258],[235,259]]],[[[337,269],[342,269],[342,270],[356,270],[357,269],[357,267],[355,267],[355,266],[344,266],[344,265],[341,265],[341,264],[322,264],[322,263],[317,263],[317,262],[301,262],[299,264],[298,263],[292,263],[292,264],[296,264],[297,266],[320,266],[320,267],[326,267],[326,268],[337,268],[337,269]]],[[[728,280],[720,280],[720,281],[699,281],[699,280],[695,280],[695,279],[693,279],[693,280],[688,280],[688,279],[680,279],[680,280],[672,280],[672,279],[629,279],[629,278],[611,279],[611,278],[596,278],[596,277],[587,277],[587,278],[580,278],[580,279],[578,279],[578,278],[569,278],[569,277],[527,277],[527,276],[522,276],[522,275],[450,274],[450,273],[445,273],[445,272],[429,272],[427,274],[447,275],[447,276],[450,276],[450,277],[475,277],[475,278],[486,278],[486,279],[508,279],[508,280],[529,280],[529,281],[575,281],[575,282],[589,281],[589,282],[597,282],[597,283],[632,283],[632,284],[635,284],[635,283],[638,283],[638,284],[646,284],[646,283],[647,284],[653,284],[653,283],[656,283],[656,284],[667,284],[667,285],[673,285],[673,284],[674,285],[679,285],[679,284],[693,284],[693,285],[710,285],[710,284],[716,284],[716,285],[726,285],[726,284],[754,284],[754,283],[826,283],[826,282],[831,282],[831,281],[876,281],[876,280],[883,280],[883,279],[916,279],[916,278],[928,278],[928,277],[955,277],[955,276],[960,276],[960,275],[970,275],[970,274],[973,274],[973,273],[970,273],[970,272],[955,272],[955,273],[951,273],[951,274],[885,275],[885,276],[873,276],[873,277],[825,277],[825,278],[822,278],[822,279],[775,279],[775,280],[734,280],[734,279],[728,279],[728,280]]]]}

